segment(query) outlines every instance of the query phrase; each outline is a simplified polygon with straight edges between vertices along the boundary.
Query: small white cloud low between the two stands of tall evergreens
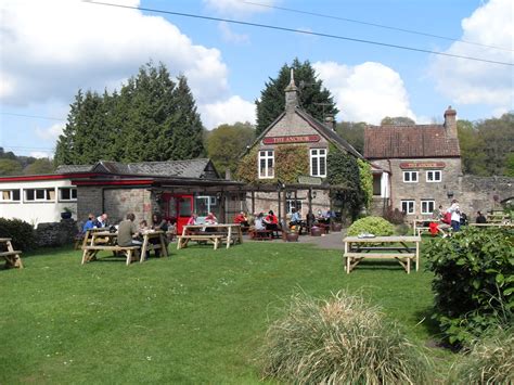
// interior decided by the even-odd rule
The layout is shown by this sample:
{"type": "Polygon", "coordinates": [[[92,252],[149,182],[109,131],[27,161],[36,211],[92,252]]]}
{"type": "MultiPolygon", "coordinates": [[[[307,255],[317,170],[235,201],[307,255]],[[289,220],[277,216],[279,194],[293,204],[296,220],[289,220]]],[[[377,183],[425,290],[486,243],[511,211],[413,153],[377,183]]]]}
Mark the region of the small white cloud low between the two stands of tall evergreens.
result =
{"type": "Polygon", "coordinates": [[[231,97],[228,100],[200,105],[202,123],[209,130],[222,124],[232,125],[236,121],[255,124],[255,104],[241,97],[231,97]]]}

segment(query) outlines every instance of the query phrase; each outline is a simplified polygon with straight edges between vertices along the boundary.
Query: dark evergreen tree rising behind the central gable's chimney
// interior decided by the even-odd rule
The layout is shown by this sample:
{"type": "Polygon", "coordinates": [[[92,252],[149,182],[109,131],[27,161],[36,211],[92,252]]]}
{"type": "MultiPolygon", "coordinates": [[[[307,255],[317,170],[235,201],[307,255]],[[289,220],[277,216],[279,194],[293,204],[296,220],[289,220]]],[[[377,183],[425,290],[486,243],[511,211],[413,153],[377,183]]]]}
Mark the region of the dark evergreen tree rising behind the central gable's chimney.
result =
{"type": "Polygon", "coordinates": [[[323,87],[323,81],[318,79],[310,62],[301,63],[295,59],[291,66],[284,64],[280,68],[277,78],[269,78],[265,89],[260,92],[260,100],[255,101],[257,134],[262,132],[284,111],[284,90],[291,80],[291,68],[294,68],[295,72],[295,82],[299,88],[299,104],[303,110],[321,121],[325,116],[335,116],[339,112],[330,91],[323,87]]]}

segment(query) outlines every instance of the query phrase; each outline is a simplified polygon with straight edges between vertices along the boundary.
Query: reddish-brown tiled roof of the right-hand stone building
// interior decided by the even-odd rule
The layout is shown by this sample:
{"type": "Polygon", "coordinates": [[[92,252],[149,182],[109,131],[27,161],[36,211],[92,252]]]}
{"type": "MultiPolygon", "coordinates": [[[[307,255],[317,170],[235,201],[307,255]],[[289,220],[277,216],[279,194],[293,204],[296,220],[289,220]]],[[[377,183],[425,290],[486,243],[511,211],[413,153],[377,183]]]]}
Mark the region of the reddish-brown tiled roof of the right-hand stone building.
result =
{"type": "Polygon", "coordinates": [[[368,159],[459,157],[459,139],[441,125],[368,126],[364,157],[368,159]]]}

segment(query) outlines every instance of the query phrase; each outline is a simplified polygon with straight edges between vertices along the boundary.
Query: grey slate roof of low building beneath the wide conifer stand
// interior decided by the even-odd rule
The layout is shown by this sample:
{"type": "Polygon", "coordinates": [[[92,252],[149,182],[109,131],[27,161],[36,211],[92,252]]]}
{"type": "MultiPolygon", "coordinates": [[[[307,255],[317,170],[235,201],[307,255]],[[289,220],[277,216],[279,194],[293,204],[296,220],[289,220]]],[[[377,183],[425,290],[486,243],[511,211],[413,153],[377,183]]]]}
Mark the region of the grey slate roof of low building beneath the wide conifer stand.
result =
{"type": "Polygon", "coordinates": [[[55,172],[70,174],[77,171],[156,176],[156,177],[183,177],[196,179],[219,178],[213,163],[208,158],[167,162],[141,162],[124,164],[119,162],[100,161],[95,165],[63,165],[55,172]]]}

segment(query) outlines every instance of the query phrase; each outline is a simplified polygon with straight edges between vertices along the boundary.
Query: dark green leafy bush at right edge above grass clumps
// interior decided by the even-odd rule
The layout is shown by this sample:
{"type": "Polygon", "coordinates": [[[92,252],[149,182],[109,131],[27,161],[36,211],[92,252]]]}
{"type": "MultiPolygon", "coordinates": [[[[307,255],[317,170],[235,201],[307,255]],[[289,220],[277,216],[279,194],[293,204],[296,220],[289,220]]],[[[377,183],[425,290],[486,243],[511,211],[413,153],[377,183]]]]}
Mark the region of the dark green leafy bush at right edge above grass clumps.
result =
{"type": "Polygon", "coordinates": [[[462,347],[491,325],[509,325],[514,310],[514,231],[470,228],[433,240],[434,318],[445,338],[462,347]]]}

